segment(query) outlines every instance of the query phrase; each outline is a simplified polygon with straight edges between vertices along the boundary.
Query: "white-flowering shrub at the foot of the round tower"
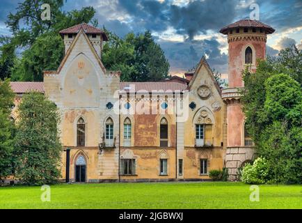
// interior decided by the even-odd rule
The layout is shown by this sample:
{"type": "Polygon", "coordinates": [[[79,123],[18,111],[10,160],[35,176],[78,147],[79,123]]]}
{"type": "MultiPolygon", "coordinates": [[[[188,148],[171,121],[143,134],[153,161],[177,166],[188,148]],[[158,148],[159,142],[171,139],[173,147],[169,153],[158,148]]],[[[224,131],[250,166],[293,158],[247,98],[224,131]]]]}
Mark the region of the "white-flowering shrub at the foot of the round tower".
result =
{"type": "Polygon", "coordinates": [[[267,183],[269,178],[269,168],[267,160],[258,157],[253,164],[246,164],[241,171],[241,180],[246,184],[267,183]]]}

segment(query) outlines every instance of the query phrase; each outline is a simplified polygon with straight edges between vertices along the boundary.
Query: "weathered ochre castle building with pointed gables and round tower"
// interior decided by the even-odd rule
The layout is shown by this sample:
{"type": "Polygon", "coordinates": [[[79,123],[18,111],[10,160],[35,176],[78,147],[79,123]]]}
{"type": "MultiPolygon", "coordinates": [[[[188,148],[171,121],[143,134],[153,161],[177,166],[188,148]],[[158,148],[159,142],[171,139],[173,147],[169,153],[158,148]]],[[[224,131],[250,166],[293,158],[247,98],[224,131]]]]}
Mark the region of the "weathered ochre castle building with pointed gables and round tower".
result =
{"type": "Polygon", "coordinates": [[[251,20],[221,29],[228,34],[230,55],[230,89],[221,89],[205,58],[186,79],[120,82],[120,72],[102,64],[106,34],[79,24],[60,32],[65,57],[58,70],[45,71],[41,83],[12,82],[16,107],[30,90],[56,103],[63,180],[208,180],[210,170],[223,167],[235,180],[237,168],[254,156],[237,94],[244,86],[241,70],[255,69],[255,59],[264,59],[272,31],[251,20]]]}

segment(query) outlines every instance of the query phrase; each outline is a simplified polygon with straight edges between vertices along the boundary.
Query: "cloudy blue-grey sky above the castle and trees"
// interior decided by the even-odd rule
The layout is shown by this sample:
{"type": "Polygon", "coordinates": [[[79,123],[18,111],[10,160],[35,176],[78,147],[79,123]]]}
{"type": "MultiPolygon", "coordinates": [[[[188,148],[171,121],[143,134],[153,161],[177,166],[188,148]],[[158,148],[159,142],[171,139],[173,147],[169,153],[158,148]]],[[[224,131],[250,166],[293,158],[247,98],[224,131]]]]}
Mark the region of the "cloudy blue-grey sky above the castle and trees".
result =
{"type": "MultiPolygon", "coordinates": [[[[10,35],[5,21],[20,0],[0,0],[0,35],[10,35]]],[[[276,32],[269,35],[267,54],[275,56],[291,44],[302,47],[301,0],[65,0],[63,10],[93,6],[99,26],[123,37],[150,30],[170,62],[170,74],[182,77],[202,56],[209,66],[228,73],[227,37],[219,30],[248,18],[257,3],[260,21],[276,32]]]]}

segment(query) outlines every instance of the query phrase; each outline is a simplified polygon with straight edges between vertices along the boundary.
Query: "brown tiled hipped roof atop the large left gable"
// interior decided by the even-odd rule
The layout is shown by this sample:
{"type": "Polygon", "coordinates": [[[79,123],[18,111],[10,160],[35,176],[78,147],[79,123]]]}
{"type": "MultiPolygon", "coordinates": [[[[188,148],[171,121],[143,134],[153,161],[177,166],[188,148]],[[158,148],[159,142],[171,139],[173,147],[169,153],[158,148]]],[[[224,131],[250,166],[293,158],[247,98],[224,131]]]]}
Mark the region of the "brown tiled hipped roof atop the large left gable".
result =
{"type": "Polygon", "coordinates": [[[103,37],[103,40],[107,41],[108,36],[102,29],[95,28],[94,26],[90,26],[89,24],[82,23],[82,24],[77,24],[75,26],[71,26],[67,29],[63,29],[59,31],[60,34],[77,34],[79,31],[83,29],[84,33],[86,34],[101,34],[103,37]]]}

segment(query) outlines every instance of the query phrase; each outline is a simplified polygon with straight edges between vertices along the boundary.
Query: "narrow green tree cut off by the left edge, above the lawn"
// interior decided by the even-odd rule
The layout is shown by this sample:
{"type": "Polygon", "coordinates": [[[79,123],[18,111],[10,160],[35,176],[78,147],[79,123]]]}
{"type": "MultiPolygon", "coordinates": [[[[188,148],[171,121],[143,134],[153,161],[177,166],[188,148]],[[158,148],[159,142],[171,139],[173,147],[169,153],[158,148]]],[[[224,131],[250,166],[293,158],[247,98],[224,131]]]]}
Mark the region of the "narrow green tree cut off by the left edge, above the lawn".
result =
{"type": "Polygon", "coordinates": [[[0,180],[13,173],[13,122],[10,109],[13,105],[13,91],[9,79],[0,82],[0,180]]]}

